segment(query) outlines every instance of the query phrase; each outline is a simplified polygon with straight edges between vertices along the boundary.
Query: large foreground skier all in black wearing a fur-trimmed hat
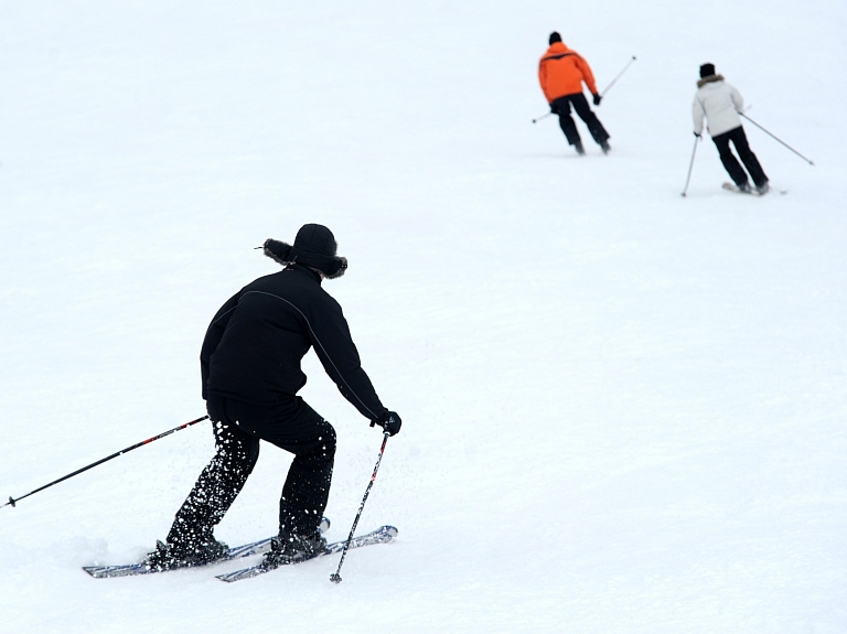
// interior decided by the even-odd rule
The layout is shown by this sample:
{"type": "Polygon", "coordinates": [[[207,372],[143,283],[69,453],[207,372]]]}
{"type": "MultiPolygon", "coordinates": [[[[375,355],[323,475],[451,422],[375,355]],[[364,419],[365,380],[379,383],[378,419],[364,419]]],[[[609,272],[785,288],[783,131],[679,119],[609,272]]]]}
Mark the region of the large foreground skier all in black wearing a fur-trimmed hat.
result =
{"type": "Polygon", "coordinates": [[[341,394],[373,425],[394,436],[400,418],[376,396],[362,369],[341,307],[321,288],[344,275],[332,232],[304,225],[294,245],[266,240],[279,272],[244,287],[217,311],[200,353],[203,398],[215,433],[215,455],[176,513],[167,544],[148,555],[150,567],[197,566],[226,555],[214,527],[242,491],[259,456],[259,440],[294,454],[279,503],[279,536],[266,562],[278,566],[319,555],[335,431],[297,391],[305,385],[300,361],[314,347],[341,394]]]}

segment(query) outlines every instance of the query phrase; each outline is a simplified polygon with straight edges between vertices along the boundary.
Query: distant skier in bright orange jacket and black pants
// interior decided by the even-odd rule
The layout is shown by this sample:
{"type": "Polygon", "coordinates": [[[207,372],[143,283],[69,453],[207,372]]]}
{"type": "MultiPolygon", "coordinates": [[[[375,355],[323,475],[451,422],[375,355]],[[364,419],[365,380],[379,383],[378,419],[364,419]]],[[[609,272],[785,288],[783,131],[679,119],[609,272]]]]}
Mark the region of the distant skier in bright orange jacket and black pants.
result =
{"type": "Polygon", "coordinates": [[[577,149],[578,154],[585,154],[582,140],[579,138],[577,125],[570,117],[570,107],[579,115],[579,118],[588,126],[591,137],[602,148],[604,153],[609,153],[609,132],[605,131],[600,119],[591,110],[588,99],[582,94],[582,83],[585,82],[591,95],[594,97],[594,106],[600,105],[600,94],[597,92],[594,75],[588,62],[576,51],[571,51],[561,42],[561,35],[557,32],[550,33],[550,47],[538,63],[538,80],[542,84],[544,96],[550,105],[550,111],[559,116],[559,126],[568,143],[577,149]]]}

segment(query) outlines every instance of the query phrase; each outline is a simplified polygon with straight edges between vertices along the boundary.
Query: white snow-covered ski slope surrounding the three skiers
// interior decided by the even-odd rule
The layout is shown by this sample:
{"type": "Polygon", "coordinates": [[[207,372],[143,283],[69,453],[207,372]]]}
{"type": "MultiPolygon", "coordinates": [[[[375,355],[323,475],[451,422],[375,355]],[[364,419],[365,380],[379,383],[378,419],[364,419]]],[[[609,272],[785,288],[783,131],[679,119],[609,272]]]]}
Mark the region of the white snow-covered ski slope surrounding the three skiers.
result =
{"type": "MultiPolygon", "coordinates": [[[[326,282],[404,418],[360,524],[395,544],[234,585],[95,580],[163,538],[207,423],[0,509],[0,631],[847,632],[847,6],[0,3],[2,496],[204,413],[197,354],[254,251],[329,225],[326,282]],[[536,80],[604,87],[603,157],[536,80]],[[714,62],[784,196],[694,143],[714,62]]],[[[340,539],[380,441],[313,355],[340,539]]],[[[217,536],[270,535],[265,447],[217,536]]]]}

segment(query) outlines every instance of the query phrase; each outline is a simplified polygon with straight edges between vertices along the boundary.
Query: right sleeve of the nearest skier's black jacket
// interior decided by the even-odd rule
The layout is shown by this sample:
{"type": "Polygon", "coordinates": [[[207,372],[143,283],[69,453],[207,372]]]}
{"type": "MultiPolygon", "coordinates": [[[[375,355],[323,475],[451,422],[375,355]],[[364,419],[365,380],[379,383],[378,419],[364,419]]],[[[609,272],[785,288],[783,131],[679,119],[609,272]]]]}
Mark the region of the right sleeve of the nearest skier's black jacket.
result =
{"type": "Polygon", "coordinates": [[[376,396],[350,334],[347,321],[339,303],[324,295],[320,310],[310,315],[309,339],[323,369],[358,412],[368,420],[376,420],[387,411],[376,396]]]}

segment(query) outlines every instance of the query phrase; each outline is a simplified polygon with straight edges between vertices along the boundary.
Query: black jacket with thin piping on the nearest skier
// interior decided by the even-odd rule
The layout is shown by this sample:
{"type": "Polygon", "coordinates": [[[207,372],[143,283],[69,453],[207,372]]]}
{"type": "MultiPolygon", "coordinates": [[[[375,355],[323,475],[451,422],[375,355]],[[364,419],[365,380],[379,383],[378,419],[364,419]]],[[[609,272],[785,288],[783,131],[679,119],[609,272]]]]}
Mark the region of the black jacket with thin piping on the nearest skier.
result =
{"type": "Polygon", "coordinates": [[[362,416],[375,420],[386,411],[362,369],[339,302],[321,288],[317,272],[299,265],[255,280],[217,311],[200,353],[203,398],[286,400],[305,385],[300,361],[312,346],[362,416]]]}

